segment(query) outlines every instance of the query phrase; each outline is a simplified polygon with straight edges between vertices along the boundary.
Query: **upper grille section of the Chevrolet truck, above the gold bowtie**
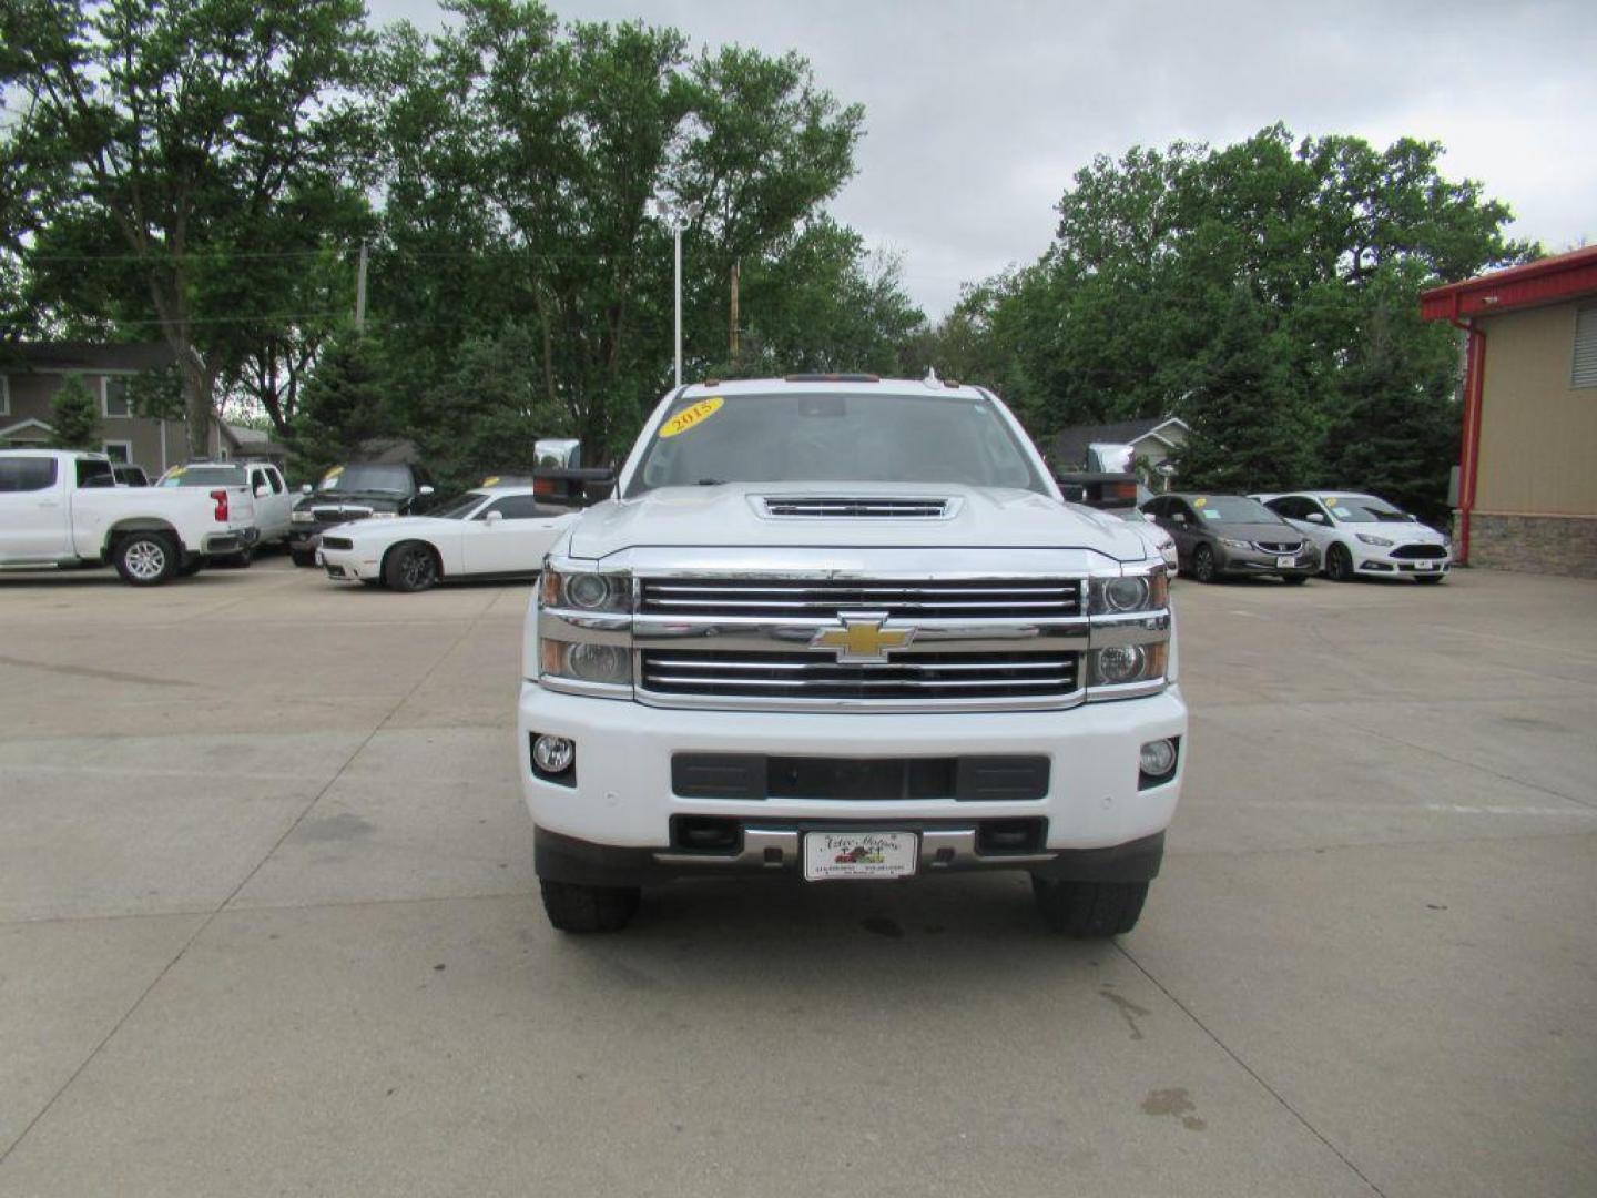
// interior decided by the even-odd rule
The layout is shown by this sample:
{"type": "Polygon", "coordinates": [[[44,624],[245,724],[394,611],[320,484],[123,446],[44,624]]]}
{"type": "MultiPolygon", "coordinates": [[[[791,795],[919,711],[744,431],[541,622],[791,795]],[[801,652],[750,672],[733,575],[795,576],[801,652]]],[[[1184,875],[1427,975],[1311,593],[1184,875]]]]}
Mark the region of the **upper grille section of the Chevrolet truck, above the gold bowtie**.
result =
{"type": "Polygon", "coordinates": [[[1073,578],[644,578],[639,596],[645,615],[684,617],[1059,618],[1080,610],[1073,578]]]}

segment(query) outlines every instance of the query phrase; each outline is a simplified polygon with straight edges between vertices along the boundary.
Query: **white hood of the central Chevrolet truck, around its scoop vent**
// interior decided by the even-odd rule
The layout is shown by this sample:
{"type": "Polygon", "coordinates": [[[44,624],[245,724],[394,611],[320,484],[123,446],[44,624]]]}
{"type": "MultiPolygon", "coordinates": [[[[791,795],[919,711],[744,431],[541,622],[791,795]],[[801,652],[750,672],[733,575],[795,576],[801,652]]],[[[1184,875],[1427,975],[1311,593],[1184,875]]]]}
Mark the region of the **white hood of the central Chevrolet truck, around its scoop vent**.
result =
{"type": "Polygon", "coordinates": [[[1148,546],[1124,521],[1060,503],[1032,490],[950,484],[722,482],[661,487],[608,500],[583,513],[572,530],[573,557],[600,559],[639,548],[1078,548],[1119,562],[1145,561],[1148,546]],[[947,500],[947,514],[773,516],[767,498],[947,500]]]}

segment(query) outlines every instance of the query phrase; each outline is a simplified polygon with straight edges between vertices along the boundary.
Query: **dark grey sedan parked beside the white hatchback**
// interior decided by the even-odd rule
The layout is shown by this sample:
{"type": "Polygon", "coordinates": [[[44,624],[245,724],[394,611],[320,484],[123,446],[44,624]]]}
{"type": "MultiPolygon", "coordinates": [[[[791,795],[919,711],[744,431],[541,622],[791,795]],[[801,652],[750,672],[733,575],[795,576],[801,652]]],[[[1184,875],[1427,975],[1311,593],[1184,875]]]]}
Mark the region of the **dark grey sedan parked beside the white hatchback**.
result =
{"type": "Polygon", "coordinates": [[[1156,495],[1142,510],[1175,538],[1180,567],[1201,583],[1244,573],[1303,583],[1319,570],[1308,538],[1247,495],[1156,495]]]}

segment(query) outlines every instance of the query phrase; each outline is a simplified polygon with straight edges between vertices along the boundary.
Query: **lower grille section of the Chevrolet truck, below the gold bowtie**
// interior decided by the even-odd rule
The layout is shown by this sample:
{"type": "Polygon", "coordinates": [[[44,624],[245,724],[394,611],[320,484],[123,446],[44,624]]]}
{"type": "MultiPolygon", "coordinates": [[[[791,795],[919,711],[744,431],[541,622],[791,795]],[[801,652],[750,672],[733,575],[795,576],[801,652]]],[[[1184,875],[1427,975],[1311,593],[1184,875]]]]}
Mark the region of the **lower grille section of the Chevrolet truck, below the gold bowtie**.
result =
{"type": "Polygon", "coordinates": [[[661,649],[640,653],[656,695],[786,700],[1059,698],[1076,690],[1080,653],[912,653],[843,666],[830,655],[661,649]]]}

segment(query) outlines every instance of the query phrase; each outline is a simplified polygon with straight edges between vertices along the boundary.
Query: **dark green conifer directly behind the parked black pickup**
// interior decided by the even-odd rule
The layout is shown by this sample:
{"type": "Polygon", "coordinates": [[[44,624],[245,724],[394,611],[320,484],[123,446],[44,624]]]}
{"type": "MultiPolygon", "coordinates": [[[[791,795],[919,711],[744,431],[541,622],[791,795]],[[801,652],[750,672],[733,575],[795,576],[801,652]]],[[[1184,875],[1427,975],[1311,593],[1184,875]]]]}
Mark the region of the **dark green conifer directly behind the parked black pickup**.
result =
{"type": "Polygon", "coordinates": [[[294,422],[295,466],[319,474],[358,458],[364,442],[390,431],[388,395],[378,342],[355,332],[334,340],[305,383],[294,422]]]}

